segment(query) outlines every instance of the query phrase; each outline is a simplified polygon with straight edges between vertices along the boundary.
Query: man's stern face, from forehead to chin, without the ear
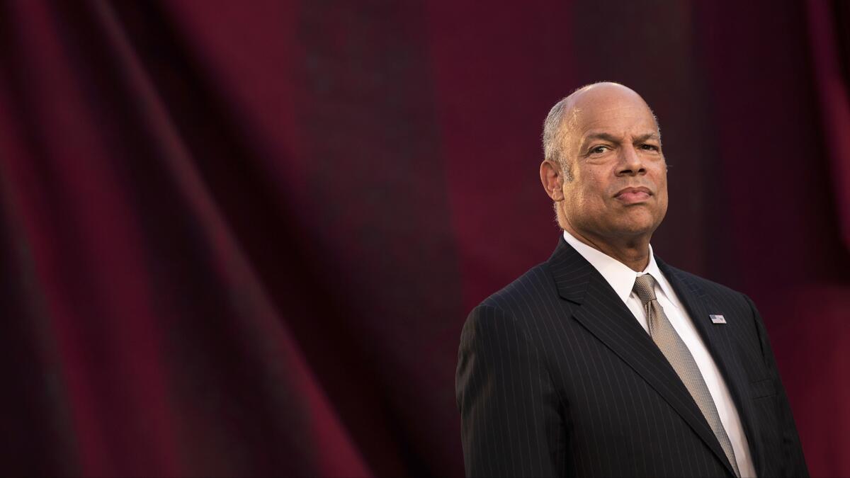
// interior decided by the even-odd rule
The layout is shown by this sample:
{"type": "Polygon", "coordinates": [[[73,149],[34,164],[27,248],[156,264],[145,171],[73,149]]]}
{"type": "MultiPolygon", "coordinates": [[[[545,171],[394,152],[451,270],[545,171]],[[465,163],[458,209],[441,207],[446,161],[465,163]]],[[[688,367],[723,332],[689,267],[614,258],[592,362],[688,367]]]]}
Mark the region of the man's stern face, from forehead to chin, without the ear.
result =
{"type": "Polygon", "coordinates": [[[658,129],[626,88],[595,88],[575,100],[563,128],[564,217],[582,236],[651,235],[667,211],[667,174],[658,129]]]}

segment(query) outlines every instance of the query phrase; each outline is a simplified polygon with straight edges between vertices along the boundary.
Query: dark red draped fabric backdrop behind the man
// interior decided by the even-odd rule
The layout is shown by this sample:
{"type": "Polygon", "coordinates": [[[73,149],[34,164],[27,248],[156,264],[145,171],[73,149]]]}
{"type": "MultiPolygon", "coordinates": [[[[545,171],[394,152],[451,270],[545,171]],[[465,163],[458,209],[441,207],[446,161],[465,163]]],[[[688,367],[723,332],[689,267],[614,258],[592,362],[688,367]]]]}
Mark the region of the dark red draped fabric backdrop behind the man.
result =
{"type": "Polygon", "coordinates": [[[467,311],[548,257],[541,122],[660,117],[656,253],[750,295],[850,475],[850,8],[0,3],[0,463],[460,475],[467,311]]]}

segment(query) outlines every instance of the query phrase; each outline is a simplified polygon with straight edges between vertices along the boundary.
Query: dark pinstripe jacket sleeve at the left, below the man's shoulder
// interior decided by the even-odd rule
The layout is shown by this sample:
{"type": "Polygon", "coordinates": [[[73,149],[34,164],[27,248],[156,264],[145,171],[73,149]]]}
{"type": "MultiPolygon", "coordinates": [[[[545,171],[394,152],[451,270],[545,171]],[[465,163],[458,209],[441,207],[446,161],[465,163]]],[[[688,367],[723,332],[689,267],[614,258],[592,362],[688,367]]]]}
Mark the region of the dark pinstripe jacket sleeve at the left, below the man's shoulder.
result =
{"type": "Polygon", "coordinates": [[[479,305],[461,334],[457,406],[467,476],[562,475],[558,394],[513,317],[479,305]]]}

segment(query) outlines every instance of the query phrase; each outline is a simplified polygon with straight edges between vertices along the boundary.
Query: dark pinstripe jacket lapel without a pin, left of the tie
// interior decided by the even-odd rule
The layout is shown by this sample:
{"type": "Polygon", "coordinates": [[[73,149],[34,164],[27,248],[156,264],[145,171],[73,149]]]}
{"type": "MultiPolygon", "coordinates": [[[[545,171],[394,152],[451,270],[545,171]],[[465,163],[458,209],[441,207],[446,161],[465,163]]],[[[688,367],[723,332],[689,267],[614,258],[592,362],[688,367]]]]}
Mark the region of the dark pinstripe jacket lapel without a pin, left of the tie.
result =
{"type": "Polygon", "coordinates": [[[646,380],[734,476],[723,448],[688,389],[598,270],[563,239],[548,265],[559,295],[579,305],[573,308],[575,320],[646,380]]]}

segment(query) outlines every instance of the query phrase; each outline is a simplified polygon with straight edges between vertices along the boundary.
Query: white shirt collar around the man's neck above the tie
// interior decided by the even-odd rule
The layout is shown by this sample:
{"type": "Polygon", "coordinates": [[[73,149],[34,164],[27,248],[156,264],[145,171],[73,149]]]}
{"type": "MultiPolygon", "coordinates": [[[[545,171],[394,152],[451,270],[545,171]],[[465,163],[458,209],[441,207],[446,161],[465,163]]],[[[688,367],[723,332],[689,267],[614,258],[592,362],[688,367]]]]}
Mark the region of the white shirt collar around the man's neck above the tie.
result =
{"type": "Polygon", "coordinates": [[[581,257],[587,259],[587,262],[589,262],[594,269],[599,271],[599,274],[601,274],[605,281],[611,285],[611,288],[614,289],[614,292],[623,302],[626,302],[626,299],[628,299],[629,295],[632,293],[632,288],[635,285],[635,279],[637,279],[638,276],[643,276],[643,274],[652,275],[655,282],[659,285],[661,292],[664,293],[668,299],[674,297],[671,296],[669,290],[670,286],[667,283],[666,278],[661,274],[661,270],[658,268],[658,263],[655,262],[655,254],[652,252],[652,244],[649,245],[649,264],[646,266],[646,269],[641,272],[635,272],[619,260],[579,241],[566,230],[564,230],[564,241],[570,244],[576,252],[580,253],[581,257]]]}

